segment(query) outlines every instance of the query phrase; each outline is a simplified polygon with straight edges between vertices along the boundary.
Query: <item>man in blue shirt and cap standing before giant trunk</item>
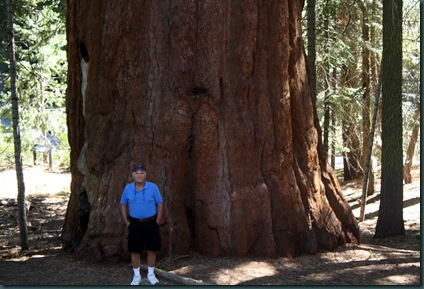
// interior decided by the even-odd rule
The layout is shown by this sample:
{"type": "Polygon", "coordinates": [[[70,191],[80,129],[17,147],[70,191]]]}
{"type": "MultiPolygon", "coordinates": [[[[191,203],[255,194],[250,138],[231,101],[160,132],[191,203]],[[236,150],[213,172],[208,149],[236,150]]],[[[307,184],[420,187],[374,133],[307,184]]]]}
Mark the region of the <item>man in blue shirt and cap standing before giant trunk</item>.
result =
{"type": "Polygon", "coordinates": [[[163,215],[163,200],[157,185],[146,181],[144,166],[135,165],[132,177],[135,182],[125,186],[120,202],[122,218],[128,227],[128,251],[131,252],[134,270],[131,285],[141,283],[140,254],[144,250],[147,250],[147,280],[155,285],[159,283],[154,269],[156,252],[161,248],[159,224],[163,215]]]}

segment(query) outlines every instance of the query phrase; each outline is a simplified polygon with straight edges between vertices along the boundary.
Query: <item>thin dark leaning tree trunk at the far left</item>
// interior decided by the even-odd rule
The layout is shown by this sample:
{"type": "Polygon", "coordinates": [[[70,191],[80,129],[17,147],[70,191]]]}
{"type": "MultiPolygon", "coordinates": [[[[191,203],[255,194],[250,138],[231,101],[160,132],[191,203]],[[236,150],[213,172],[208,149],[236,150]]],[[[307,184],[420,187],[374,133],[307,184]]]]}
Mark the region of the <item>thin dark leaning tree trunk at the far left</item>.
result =
{"type": "Polygon", "coordinates": [[[13,144],[15,148],[15,169],[18,183],[18,219],[22,250],[28,249],[27,215],[25,207],[25,183],[22,172],[21,134],[19,129],[19,101],[16,89],[15,36],[13,30],[12,0],[6,0],[7,34],[9,37],[10,91],[12,95],[13,144]]]}

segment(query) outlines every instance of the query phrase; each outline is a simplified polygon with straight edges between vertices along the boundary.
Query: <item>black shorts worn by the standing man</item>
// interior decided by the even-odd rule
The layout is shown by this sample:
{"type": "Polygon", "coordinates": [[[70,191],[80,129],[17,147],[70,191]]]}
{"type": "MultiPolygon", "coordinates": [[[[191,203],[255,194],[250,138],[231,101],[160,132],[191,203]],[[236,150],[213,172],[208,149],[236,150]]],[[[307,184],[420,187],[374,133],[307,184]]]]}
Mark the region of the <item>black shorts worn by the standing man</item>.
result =
{"type": "Polygon", "coordinates": [[[160,251],[161,239],[156,219],[140,222],[130,218],[128,226],[128,251],[142,253],[144,250],[160,251]]]}

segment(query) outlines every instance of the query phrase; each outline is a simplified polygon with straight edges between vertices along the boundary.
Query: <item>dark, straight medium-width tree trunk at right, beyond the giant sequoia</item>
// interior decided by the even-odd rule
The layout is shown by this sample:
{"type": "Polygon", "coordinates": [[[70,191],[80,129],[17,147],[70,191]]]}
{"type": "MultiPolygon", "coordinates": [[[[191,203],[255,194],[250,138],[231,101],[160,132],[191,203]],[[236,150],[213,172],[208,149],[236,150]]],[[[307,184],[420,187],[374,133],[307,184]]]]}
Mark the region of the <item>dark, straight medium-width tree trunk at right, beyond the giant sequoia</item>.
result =
{"type": "Polygon", "coordinates": [[[402,153],[402,0],[383,3],[381,193],[375,238],[405,234],[402,153]]]}

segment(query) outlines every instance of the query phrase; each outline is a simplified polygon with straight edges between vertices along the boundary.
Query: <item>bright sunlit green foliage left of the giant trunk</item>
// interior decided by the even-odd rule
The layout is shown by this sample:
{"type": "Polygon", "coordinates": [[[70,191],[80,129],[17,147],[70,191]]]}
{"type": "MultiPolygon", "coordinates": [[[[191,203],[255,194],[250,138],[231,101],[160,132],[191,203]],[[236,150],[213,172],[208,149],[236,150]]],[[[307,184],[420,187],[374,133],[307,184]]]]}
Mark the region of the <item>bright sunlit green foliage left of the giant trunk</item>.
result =
{"type": "MultiPolygon", "coordinates": [[[[14,5],[22,158],[32,163],[34,144],[52,145],[45,139],[46,132],[51,131],[60,140],[53,149],[53,165],[69,166],[64,1],[15,0],[14,5]]],[[[0,33],[5,29],[3,25],[2,22],[0,33]]],[[[7,43],[3,41],[4,45],[7,43]]],[[[11,119],[7,51],[0,51],[0,55],[0,79],[4,83],[3,91],[0,89],[0,117],[11,119]]],[[[0,162],[13,159],[10,132],[11,127],[0,127],[0,162]]]]}

